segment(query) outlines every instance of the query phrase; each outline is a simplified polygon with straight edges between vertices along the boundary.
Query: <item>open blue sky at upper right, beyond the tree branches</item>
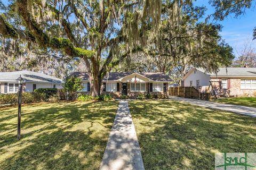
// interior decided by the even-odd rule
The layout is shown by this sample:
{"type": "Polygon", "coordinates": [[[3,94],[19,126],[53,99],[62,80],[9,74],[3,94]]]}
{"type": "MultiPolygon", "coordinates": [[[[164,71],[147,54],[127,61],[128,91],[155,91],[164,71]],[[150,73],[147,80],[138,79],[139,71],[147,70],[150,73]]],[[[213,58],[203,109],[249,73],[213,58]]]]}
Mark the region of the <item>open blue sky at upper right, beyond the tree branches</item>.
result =
{"type": "MultiPolygon", "coordinates": [[[[194,2],[198,6],[206,6],[207,11],[205,17],[214,13],[214,8],[209,5],[208,1],[197,0],[194,2]]],[[[253,28],[256,27],[256,8],[246,9],[245,14],[234,18],[234,15],[228,16],[223,21],[218,21],[223,28],[220,35],[225,39],[234,49],[234,54],[237,55],[236,50],[241,50],[248,39],[252,39],[253,28]]],[[[256,48],[256,40],[252,41],[252,46],[256,48]]]]}

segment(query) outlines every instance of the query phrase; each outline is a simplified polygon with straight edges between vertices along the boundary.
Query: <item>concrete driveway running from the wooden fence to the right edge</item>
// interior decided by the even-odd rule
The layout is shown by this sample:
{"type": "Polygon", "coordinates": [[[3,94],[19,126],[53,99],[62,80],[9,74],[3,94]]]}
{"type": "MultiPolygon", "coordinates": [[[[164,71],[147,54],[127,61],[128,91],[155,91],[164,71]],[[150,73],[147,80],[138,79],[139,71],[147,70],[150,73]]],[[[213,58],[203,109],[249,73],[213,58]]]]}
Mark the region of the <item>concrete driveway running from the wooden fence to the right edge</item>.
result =
{"type": "Polygon", "coordinates": [[[221,111],[228,111],[234,112],[242,115],[247,115],[251,117],[256,117],[256,108],[255,107],[246,107],[246,106],[239,106],[239,105],[230,105],[230,104],[223,104],[217,103],[213,101],[205,101],[205,100],[196,100],[196,99],[188,99],[182,97],[174,97],[169,96],[172,100],[179,100],[190,104],[195,104],[197,106],[202,106],[211,109],[218,109],[221,111]]]}

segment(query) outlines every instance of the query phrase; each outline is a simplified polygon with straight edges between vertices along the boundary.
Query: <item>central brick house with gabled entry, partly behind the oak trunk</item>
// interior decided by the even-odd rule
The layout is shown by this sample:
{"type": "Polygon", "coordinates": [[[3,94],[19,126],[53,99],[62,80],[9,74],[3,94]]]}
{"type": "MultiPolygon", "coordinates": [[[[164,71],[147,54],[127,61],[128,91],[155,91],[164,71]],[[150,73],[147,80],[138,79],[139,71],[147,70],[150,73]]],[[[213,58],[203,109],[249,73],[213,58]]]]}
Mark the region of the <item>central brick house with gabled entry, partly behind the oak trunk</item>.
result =
{"type": "MultiPolygon", "coordinates": [[[[82,92],[89,94],[89,75],[85,72],[74,72],[72,75],[82,79],[84,86],[82,92]]],[[[164,73],[110,72],[103,78],[101,92],[115,97],[121,95],[136,97],[140,92],[167,95],[170,81],[171,79],[164,73]]]]}

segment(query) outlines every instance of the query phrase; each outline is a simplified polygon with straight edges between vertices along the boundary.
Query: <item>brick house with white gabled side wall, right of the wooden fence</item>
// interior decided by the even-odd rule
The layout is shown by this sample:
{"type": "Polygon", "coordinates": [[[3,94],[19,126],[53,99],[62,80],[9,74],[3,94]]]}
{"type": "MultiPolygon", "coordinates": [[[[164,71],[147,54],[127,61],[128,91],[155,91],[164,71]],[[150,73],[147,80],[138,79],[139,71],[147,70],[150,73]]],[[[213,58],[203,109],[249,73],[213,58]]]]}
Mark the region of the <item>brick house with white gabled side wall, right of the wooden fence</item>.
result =
{"type": "Polygon", "coordinates": [[[191,69],[181,81],[181,86],[206,87],[213,85],[217,94],[227,97],[256,96],[256,68],[221,67],[217,73],[191,69]]]}

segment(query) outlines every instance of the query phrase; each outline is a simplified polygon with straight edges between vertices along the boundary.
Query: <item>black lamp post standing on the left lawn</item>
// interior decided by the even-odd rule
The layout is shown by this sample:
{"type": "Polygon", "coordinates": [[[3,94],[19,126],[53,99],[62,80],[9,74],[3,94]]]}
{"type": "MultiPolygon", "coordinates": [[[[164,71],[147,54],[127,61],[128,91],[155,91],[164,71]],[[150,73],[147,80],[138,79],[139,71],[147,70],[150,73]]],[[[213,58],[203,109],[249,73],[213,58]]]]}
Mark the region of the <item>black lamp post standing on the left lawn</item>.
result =
{"type": "Polygon", "coordinates": [[[18,95],[18,130],[17,130],[17,140],[20,140],[20,122],[21,122],[21,93],[22,93],[22,84],[24,79],[20,77],[17,79],[19,84],[19,95],[18,95]]]}

